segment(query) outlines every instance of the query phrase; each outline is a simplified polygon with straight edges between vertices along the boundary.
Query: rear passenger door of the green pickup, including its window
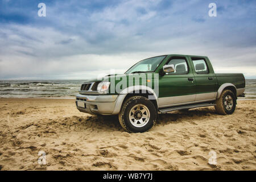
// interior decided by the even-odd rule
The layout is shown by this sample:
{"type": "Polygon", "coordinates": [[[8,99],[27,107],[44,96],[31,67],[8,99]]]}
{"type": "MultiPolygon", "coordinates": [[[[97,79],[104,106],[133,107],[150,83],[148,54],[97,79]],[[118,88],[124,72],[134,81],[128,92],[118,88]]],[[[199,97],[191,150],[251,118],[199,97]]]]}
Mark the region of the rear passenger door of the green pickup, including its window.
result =
{"type": "Polygon", "coordinates": [[[195,101],[214,100],[217,96],[217,79],[209,60],[205,57],[191,57],[191,62],[196,82],[195,101]]]}

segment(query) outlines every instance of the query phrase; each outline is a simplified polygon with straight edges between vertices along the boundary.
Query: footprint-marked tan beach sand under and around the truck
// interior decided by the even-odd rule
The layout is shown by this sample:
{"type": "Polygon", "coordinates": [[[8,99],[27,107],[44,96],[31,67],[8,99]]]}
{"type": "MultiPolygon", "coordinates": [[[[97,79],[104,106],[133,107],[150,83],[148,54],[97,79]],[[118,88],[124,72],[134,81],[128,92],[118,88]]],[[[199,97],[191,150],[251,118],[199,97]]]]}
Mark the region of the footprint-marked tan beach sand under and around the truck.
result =
{"type": "Polygon", "coordinates": [[[80,113],[75,100],[1,98],[0,108],[1,170],[256,170],[256,101],[238,101],[232,115],[160,114],[137,134],[117,117],[80,113]]]}

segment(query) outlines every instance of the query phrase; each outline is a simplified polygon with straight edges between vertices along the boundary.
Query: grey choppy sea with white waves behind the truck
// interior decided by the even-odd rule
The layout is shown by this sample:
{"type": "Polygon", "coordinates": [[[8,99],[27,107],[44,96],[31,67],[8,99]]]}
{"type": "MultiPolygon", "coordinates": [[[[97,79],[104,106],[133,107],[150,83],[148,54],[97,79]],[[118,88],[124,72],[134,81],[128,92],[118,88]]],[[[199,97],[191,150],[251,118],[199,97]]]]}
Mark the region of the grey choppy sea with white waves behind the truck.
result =
{"type": "MultiPolygon", "coordinates": [[[[74,98],[85,80],[0,80],[0,98],[74,98]]],[[[256,100],[256,79],[246,79],[245,97],[256,100]]]]}

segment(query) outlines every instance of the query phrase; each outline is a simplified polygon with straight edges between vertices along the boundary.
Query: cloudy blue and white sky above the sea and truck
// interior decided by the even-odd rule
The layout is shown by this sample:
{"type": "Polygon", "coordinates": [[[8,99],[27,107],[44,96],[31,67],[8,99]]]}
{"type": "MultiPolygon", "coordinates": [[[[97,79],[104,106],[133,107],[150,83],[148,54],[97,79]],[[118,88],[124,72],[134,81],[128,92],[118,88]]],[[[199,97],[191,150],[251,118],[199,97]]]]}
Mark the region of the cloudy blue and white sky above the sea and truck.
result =
{"type": "Polygon", "coordinates": [[[87,79],[172,53],[256,78],[255,32],[255,0],[1,0],[0,79],[87,79]]]}

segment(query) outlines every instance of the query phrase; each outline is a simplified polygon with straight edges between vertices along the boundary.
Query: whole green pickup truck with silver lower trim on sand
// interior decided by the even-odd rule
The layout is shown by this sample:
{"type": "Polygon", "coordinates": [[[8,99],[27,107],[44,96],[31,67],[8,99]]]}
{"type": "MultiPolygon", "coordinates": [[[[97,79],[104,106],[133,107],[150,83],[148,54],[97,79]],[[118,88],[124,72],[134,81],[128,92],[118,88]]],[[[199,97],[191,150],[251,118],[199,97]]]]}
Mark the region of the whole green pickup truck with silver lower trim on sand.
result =
{"type": "Polygon", "coordinates": [[[139,61],[121,75],[87,80],[76,96],[84,113],[117,115],[123,129],[151,129],[159,113],[214,106],[232,114],[245,91],[242,73],[214,73],[206,56],[163,55],[139,61]]]}

